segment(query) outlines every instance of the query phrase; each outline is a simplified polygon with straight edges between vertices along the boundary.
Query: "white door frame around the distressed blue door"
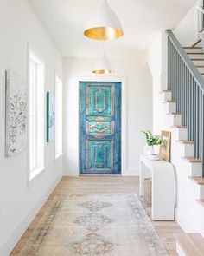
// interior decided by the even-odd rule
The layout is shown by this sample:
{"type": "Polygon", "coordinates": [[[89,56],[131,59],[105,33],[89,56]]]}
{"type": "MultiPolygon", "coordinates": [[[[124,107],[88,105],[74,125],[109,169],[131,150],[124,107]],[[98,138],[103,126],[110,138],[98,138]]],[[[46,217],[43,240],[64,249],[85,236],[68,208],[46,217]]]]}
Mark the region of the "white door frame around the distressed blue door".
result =
{"type": "MultiPolygon", "coordinates": [[[[121,82],[121,174],[127,170],[127,77],[126,76],[75,76],[73,86],[78,89],[75,99],[80,106],[80,82],[121,82]]],[[[80,108],[78,109],[78,124],[74,127],[77,131],[76,145],[78,152],[78,175],[80,175],[80,108]]],[[[115,174],[114,174],[115,175],[115,174]]]]}

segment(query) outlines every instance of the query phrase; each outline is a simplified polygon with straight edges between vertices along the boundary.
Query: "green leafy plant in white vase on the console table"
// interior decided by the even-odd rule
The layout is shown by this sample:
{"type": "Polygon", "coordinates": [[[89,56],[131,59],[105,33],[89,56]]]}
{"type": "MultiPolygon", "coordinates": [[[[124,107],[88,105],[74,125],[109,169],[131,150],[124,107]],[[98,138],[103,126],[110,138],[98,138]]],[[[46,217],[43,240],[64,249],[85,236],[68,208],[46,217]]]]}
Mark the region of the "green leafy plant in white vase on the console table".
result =
{"type": "Polygon", "coordinates": [[[161,137],[158,135],[152,135],[149,130],[143,131],[143,134],[145,135],[147,141],[147,144],[143,148],[143,154],[148,156],[150,160],[159,160],[158,154],[155,154],[154,147],[161,144],[161,137]]]}

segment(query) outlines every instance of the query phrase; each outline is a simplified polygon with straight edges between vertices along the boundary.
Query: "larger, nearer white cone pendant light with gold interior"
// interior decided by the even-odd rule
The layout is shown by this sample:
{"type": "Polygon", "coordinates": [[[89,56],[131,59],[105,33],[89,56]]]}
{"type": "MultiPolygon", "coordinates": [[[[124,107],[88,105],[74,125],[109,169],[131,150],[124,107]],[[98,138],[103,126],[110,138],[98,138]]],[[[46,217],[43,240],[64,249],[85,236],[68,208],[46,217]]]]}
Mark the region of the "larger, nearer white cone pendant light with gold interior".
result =
{"type": "Polygon", "coordinates": [[[95,40],[112,40],[124,35],[118,16],[113,12],[106,0],[91,17],[84,35],[95,40]]]}

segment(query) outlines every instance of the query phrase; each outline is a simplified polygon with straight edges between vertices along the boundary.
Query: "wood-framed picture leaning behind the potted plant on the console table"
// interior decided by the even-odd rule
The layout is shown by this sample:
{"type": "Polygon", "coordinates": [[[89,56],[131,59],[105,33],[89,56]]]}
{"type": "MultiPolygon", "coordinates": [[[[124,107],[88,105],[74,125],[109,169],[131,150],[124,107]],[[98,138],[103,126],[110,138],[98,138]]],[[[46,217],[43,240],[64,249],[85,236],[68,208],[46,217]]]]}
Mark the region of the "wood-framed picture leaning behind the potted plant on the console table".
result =
{"type": "Polygon", "coordinates": [[[159,151],[160,159],[163,161],[169,161],[171,133],[162,131],[161,139],[162,142],[159,151]]]}

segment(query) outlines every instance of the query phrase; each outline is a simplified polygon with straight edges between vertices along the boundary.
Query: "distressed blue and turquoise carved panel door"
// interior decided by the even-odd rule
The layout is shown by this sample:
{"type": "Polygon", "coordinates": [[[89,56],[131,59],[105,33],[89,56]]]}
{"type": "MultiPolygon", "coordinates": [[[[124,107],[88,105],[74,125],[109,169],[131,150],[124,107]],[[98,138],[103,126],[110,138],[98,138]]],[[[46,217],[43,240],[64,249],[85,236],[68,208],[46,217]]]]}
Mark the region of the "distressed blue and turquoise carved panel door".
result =
{"type": "Polygon", "coordinates": [[[120,174],[120,82],[80,82],[80,174],[120,174]]]}

